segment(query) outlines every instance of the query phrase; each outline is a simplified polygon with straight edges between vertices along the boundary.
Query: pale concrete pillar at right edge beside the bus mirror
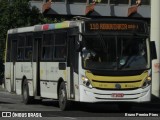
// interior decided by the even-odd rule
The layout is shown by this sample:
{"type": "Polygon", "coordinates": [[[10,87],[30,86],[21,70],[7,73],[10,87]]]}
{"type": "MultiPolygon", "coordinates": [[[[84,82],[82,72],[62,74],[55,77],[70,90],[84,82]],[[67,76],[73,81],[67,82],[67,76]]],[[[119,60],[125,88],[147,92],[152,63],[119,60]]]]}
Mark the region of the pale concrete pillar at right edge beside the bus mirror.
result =
{"type": "Polygon", "coordinates": [[[151,6],[151,40],[157,51],[157,59],[152,62],[152,93],[160,97],[160,0],[152,0],[151,6]]]}

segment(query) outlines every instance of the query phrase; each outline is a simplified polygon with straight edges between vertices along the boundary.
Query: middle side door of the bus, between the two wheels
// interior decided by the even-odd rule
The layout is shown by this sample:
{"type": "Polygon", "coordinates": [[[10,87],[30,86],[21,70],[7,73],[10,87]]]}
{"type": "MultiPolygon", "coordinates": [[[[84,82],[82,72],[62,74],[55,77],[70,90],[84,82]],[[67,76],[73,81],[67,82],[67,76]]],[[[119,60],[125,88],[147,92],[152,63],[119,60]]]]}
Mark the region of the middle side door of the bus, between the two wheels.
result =
{"type": "Polygon", "coordinates": [[[40,96],[40,58],[41,58],[41,41],[42,38],[35,38],[34,45],[35,45],[35,52],[34,52],[34,57],[35,57],[35,62],[36,62],[36,73],[35,73],[35,79],[36,80],[34,83],[34,88],[35,88],[35,95],[40,96]]]}

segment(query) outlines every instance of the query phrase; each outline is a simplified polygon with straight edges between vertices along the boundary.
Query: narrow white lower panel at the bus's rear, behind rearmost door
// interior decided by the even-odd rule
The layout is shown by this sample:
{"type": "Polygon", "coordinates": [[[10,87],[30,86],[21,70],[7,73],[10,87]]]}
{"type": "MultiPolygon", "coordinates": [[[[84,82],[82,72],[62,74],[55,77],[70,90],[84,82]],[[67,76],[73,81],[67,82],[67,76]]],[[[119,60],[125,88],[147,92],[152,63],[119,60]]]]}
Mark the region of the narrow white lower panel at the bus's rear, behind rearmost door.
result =
{"type": "Polygon", "coordinates": [[[5,63],[5,88],[11,92],[11,62],[5,63]]]}

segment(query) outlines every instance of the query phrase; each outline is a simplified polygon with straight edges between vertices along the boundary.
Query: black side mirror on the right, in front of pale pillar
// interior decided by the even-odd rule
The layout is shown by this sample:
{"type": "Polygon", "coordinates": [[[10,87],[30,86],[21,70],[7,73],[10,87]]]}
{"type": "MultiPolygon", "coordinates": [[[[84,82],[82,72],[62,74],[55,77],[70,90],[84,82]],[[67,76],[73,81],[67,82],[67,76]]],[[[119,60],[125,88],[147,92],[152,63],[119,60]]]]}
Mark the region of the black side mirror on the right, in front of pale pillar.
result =
{"type": "Polygon", "coordinates": [[[150,52],[151,52],[151,59],[157,59],[157,52],[156,52],[156,45],[155,41],[150,42],[150,52]]]}

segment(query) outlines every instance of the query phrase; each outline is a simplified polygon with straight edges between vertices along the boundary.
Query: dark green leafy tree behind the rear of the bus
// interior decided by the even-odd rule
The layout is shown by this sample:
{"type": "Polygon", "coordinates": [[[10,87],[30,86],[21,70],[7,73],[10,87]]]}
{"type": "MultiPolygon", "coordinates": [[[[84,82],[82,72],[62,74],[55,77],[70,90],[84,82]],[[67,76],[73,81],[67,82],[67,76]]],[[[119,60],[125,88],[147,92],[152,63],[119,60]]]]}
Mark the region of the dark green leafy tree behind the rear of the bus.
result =
{"type": "MultiPolygon", "coordinates": [[[[38,8],[32,7],[29,0],[0,0],[0,67],[3,66],[5,39],[12,28],[32,26],[51,22],[44,18],[38,8]]],[[[0,75],[3,68],[0,68],[0,75]]]]}

